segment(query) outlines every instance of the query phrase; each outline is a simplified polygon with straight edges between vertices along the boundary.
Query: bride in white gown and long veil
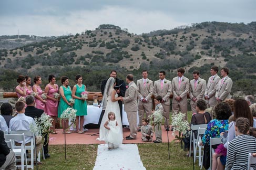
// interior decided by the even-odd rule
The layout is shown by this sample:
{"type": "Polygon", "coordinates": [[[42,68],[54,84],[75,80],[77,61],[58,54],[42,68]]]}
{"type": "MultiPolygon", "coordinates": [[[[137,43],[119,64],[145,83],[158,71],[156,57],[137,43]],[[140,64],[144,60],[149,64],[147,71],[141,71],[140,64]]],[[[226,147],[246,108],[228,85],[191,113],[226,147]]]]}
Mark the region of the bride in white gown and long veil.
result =
{"type": "Polygon", "coordinates": [[[117,124],[120,128],[120,132],[122,134],[122,122],[121,122],[121,116],[120,116],[120,109],[118,100],[121,98],[118,97],[118,94],[116,93],[116,90],[114,89],[114,86],[116,85],[116,79],[110,77],[106,83],[105,89],[104,89],[104,95],[103,95],[103,110],[105,110],[105,113],[103,115],[103,119],[100,123],[99,128],[99,137],[97,140],[104,141],[105,136],[108,133],[108,130],[104,127],[104,124],[106,121],[108,121],[108,113],[114,112],[116,115],[117,124]]]}

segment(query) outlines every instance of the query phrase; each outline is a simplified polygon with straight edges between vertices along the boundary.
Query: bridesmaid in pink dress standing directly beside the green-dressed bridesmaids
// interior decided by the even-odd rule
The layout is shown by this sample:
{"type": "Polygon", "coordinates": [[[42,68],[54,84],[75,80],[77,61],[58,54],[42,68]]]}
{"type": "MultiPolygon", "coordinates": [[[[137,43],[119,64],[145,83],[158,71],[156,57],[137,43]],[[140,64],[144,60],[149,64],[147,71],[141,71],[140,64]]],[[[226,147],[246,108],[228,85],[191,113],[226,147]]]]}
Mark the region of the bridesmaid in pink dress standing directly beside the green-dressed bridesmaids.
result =
{"type": "Polygon", "coordinates": [[[45,103],[45,112],[53,118],[53,132],[52,134],[57,134],[55,130],[56,118],[58,115],[58,98],[54,97],[54,93],[58,93],[59,87],[56,84],[56,78],[54,75],[49,75],[49,84],[45,87],[45,94],[47,95],[45,103]]]}

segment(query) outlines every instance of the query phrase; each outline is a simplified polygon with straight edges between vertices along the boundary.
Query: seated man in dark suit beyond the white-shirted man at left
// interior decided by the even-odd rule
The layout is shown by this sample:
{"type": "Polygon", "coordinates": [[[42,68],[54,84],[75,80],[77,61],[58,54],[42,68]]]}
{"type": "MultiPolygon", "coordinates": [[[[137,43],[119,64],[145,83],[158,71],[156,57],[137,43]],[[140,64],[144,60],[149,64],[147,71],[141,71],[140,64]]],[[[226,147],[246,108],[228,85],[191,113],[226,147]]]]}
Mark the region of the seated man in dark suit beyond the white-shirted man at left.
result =
{"type": "MultiPolygon", "coordinates": [[[[25,115],[26,116],[30,116],[31,118],[39,118],[43,113],[44,110],[42,109],[37,109],[35,108],[35,98],[33,97],[33,95],[28,95],[26,97],[26,104],[27,104],[27,108],[25,110],[25,115]]],[[[44,136],[45,141],[44,141],[44,154],[45,154],[45,158],[50,157],[50,154],[48,154],[48,143],[49,140],[48,139],[48,133],[44,136]]]]}

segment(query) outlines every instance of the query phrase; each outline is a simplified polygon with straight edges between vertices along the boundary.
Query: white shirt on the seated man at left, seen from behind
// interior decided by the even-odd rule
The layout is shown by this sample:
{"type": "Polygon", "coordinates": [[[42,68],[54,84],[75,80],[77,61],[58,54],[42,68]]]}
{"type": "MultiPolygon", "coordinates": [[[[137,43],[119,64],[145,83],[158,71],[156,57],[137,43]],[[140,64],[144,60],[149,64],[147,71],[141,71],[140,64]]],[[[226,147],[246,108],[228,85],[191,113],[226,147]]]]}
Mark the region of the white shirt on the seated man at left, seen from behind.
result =
{"type": "MultiPolygon", "coordinates": [[[[33,118],[26,116],[24,113],[18,113],[10,121],[10,130],[11,131],[30,131],[29,125],[34,124],[35,121],[33,118]]],[[[25,143],[30,142],[32,136],[25,136],[25,143]]],[[[23,141],[16,141],[18,143],[23,143],[23,141]]]]}

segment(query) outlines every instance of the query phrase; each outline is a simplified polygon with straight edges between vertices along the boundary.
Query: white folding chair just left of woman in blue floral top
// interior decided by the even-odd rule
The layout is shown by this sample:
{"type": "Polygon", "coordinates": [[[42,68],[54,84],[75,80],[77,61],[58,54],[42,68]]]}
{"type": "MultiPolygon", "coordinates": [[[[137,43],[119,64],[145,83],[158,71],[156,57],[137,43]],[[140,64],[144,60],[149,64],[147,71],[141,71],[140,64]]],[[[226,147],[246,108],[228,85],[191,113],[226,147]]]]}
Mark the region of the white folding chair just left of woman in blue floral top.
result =
{"type": "Polygon", "coordinates": [[[202,141],[202,137],[201,135],[204,134],[204,132],[206,131],[206,128],[198,128],[198,133],[197,133],[197,143],[196,143],[196,154],[194,155],[194,162],[196,162],[196,158],[198,157],[198,165],[201,166],[202,165],[202,160],[203,160],[203,146],[200,145],[201,141],[202,141]],[[197,156],[197,146],[198,146],[198,156],[197,156]]]}

